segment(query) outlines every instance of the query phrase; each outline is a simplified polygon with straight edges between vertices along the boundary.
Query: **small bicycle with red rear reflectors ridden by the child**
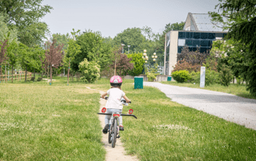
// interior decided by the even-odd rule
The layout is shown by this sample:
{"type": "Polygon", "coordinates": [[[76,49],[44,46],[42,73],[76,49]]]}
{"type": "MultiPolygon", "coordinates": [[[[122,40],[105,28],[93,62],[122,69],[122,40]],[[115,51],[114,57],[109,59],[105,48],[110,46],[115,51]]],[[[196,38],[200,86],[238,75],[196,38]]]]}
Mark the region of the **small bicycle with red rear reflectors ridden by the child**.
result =
{"type": "MultiPolygon", "coordinates": [[[[105,96],[105,99],[108,100],[108,96],[105,96]]],[[[122,105],[128,105],[125,99],[121,99],[122,105]]],[[[131,102],[129,102],[131,103],[131,102]]],[[[107,111],[106,108],[102,108],[103,115],[111,115],[111,119],[109,120],[109,128],[108,128],[108,143],[112,145],[112,148],[116,146],[116,138],[119,138],[119,122],[117,122],[119,116],[133,116],[137,119],[137,116],[133,115],[133,109],[130,109],[128,114],[119,114],[118,112],[113,112],[112,114],[105,114],[107,111]]]]}

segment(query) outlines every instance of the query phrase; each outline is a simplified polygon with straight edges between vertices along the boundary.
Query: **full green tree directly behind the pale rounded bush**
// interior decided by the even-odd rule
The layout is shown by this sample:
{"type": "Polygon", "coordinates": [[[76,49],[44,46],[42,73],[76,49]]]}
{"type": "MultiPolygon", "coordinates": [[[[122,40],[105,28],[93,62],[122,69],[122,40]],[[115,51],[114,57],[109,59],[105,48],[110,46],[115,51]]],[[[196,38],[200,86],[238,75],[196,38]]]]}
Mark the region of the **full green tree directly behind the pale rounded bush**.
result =
{"type": "Polygon", "coordinates": [[[86,30],[85,33],[76,37],[76,44],[81,47],[81,53],[75,56],[71,62],[71,68],[75,71],[79,70],[79,63],[85,58],[88,61],[96,61],[101,70],[106,68],[111,62],[112,51],[109,43],[104,43],[104,39],[99,32],[86,30]]]}

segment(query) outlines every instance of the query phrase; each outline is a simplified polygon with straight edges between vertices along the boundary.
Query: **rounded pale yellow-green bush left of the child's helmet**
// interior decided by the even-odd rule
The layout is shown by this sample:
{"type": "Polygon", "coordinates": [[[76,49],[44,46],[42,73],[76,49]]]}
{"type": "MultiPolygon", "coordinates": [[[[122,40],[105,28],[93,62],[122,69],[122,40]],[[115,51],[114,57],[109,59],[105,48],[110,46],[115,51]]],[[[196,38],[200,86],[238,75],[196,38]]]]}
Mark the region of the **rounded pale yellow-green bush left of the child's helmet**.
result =
{"type": "Polygon", "coordinates": [[[100,77],[100,66],[95,61],[88,62],[85,59],[79,63],[79,70],[82,72],[81,79],[83,82],[95,82],[100,77]]]}

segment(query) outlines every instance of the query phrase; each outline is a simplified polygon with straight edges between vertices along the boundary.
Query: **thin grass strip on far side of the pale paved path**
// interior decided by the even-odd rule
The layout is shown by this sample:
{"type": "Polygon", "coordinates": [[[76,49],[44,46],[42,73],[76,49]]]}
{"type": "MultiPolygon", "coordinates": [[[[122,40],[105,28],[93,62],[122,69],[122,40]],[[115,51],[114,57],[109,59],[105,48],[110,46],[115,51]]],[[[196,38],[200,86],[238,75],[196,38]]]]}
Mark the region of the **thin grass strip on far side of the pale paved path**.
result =
{"type": "MultiPolygon", "coordinates": [[[[167,82],[161,82],[166,85],[177,85],[180,87],[188,87],[188,88],[200,88],[199,84],[192,84],[192,83],[178,83],[178,82],[172,82],[172,81],[167,81],[167,82]]],[[[229,87],[225,87],[220,84],[214,84],[214,85],[208,85],[205,86],[205,88],[200,88],[200,89],[205,89],[209,91],[218,91],[218,92],[223,92],[223,93],[231,93],[236,96],[242,96],[244,98],[248,99],[256,99],[256,96],[252,96],[249,91],[246,91],[246,85],[237,85],[237,84],[230,84],[229,87]]]]}

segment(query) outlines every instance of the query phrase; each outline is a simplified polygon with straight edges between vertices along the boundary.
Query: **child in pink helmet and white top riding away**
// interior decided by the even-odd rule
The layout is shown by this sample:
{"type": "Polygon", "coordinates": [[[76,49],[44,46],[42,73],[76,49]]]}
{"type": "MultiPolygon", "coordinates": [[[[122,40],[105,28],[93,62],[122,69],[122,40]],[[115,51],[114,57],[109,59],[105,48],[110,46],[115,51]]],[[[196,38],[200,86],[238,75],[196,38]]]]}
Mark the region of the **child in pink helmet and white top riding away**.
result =
{"type": "MultiPolygon", "coordinates": [[[[108,102],[105,105],[105,108],[107,109],[107,114],[111,114],[113,112],[122,113],[122,97],[125,99],[126,102],[131,102],[130,99],[128,99],[127,96],[125,96],[125,93],[121,90],[122,85],[122,78],[120,76],[112,76],[111,80],[111,89],[109,89],[106,93],[103,93],[101,98],[105,99],[105,96],[108,95],[108,102]]],[[[111,119],[111,115],[105,116],[105,128],[103,128],[102,132],[103,134],[108,133],[109,128],[109,119],[111,119]]],[[[119,116],[119,131],[124,131],[124,128],[122,126],[122,116],[119,116]]]]}

